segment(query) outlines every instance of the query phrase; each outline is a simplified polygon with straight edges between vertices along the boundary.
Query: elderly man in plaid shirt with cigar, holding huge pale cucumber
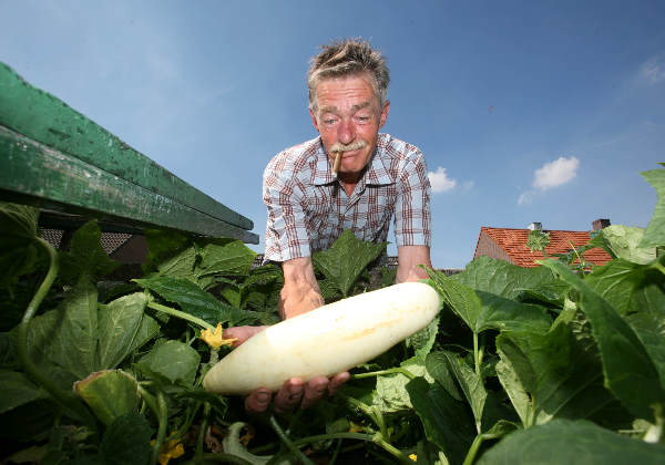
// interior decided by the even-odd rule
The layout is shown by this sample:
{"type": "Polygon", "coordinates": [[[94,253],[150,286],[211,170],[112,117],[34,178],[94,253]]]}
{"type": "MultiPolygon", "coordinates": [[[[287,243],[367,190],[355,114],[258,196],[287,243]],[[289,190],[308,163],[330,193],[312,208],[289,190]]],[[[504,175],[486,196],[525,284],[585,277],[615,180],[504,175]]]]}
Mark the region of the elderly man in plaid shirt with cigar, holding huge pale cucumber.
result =
{"type": "MultiPolygon", "coordinates": [[[[431,267],[427,166],[417,147],[379,133],[390,111],[389,80],[381,54],[358,40],[324,45],[311,61],[309,114],[319,136],[280,152],[264,173],[265,259],[284,270],[283,319],[324,304],[311,252],[327,249],[345,229],[380,242],[395,217],[397,282],[427,278],[418,267],[431,267]]],[[[229,329],[227,335],[242,342],[262,329],[229,329]]],[[[348,376],[288,380],[275,394],[275,410],[307,407],[348,376]]],[[[262,412],[272,400],[258,389],[245,406],[262,412]]]]}

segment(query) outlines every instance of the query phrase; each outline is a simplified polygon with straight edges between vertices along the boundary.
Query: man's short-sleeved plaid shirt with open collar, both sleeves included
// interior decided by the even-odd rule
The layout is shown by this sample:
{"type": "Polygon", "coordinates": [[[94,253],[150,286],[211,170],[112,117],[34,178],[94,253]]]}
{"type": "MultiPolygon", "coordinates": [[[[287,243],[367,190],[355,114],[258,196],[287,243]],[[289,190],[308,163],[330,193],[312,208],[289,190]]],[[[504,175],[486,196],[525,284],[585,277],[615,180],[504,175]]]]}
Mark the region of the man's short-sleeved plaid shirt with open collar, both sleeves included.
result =
{"type": "Polygon", "coordinates": [[[309,257],[329,248],[345,229],[358,239],[386,241],[392,216],[398,247],[429,246],[429,195],[422,153],[388,134],[379,134],[350,197],[332,174],[320,137],[287,148],[264,172],[264,260],[309,257]]]}

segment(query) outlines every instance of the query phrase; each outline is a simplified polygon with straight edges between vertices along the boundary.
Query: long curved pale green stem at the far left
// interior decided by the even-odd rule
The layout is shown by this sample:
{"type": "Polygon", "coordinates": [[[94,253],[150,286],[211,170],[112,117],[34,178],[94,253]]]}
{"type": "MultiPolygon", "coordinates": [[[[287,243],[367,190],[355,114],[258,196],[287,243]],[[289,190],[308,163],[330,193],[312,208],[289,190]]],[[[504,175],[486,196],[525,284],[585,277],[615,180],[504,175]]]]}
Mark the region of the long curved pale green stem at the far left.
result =
{"type": "Polygon", "coordinates": [[[21,323],[18,328],[19,360],[21,361],[25,373],[37,381],[58,403],[60,403],[68,411],[69,414],[73,414],[74,417],[80,418],[91,431],[96,432],[96,421],[83,402],[73,392],[62,391],[60,388],[58,388],[58,385],[55,385],[55,383],[53,383],[51,379],[44,376],[37,368],[32,359],[30,359],[28,353],[28,324],[37,313],[37,310],[44,300],[44,297],[47,297],[49,293],[49,289],[51,289],[60,268],[60,264],[58,261],[58,251],[44,239],[35,238],[35,240],[47,250],[50,265],[47,276],[37,289],[37,292],[32,297],[32,300],[30,300],[30,303],[28,303],[28,308],[25,309],[21,323]]]}

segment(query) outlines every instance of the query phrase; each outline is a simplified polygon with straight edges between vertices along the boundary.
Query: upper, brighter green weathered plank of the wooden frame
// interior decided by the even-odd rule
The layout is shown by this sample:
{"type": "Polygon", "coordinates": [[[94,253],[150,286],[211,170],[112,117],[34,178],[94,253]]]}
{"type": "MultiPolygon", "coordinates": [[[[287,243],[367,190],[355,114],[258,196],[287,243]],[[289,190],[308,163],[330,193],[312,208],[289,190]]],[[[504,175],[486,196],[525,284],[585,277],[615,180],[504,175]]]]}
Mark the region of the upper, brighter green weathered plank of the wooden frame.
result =
{"type": "Polygon", "coordinates": [[[33,87],[1,62],[0,124],[227,224],[254,228],[250,219],[185,183],[55,96],[33,87]]]}

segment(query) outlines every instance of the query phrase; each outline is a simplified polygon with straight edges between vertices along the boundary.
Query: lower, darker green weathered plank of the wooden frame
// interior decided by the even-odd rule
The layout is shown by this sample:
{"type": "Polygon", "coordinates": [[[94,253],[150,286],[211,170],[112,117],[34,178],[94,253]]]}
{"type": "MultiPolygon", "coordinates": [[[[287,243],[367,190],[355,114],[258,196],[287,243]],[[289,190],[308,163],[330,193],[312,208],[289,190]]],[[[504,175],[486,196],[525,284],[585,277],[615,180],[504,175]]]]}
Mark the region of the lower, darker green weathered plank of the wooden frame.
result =
{"type": "Polygon", "coordinates": [[[0,125],[0,198],[83,213],[132,225],[225,236],[258,236],[155,194],[96,166],[0,125]]]}

